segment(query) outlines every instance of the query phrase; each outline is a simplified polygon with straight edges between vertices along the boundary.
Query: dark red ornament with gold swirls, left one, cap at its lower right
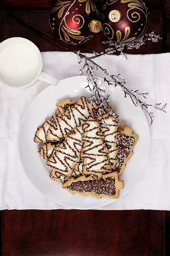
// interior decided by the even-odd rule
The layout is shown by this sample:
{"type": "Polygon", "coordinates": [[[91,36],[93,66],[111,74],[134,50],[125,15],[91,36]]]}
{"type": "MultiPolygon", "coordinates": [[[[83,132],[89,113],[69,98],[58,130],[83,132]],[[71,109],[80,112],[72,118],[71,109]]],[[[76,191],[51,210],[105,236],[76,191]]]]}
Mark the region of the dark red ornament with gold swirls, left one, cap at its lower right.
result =
{"type": "Polygon", "coordinates": [[[56,38],[68,44],[83,44],[102,30],[92,0],[58,0],[50,24],[56,38]]]}

